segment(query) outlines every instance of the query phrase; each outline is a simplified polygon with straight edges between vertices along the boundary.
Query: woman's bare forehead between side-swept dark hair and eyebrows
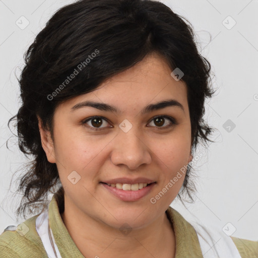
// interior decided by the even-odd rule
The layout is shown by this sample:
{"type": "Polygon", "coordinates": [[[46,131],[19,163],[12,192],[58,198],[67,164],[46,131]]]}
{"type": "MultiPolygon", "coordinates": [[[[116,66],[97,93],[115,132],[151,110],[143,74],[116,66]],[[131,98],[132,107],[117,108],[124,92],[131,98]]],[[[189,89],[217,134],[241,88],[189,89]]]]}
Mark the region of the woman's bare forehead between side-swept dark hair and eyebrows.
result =
{"type": "Polygon", "coordinates": [[[123,107],[135,109],[173,98],[186,108],[187,87],[182,80],[174,80],[171,72],[165,58],[152,53],[135,66],[106,79],[92,92],[70,99],[64,105],[72,108],[90,99],[119,106],[123,111],[123,107]]]}

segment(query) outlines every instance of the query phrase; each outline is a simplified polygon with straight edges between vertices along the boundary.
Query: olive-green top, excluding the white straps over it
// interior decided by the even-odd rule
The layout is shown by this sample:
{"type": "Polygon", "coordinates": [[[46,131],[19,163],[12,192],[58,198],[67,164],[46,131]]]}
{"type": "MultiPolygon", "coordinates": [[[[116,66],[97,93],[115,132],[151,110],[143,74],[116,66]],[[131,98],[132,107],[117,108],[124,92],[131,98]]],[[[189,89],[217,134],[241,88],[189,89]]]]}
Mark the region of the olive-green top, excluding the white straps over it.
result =
{"type": "MultiPolygon", "coordinates": [[[[195,229],[173,208],[169,207],[166,214],[175,233],[175,258],[203,257],[195,229]]],[[[0,258],[48,258],[36,231],[38,216],[25,220],[16,230],[7,230],[0,235],[0,258]]],[[[55,195],[49,204],[49,223],[62,258],[84,258],[62,221],[55,195]]],[[[258,241],[230,237],[242,258],[258,258],[258,241]]]]}

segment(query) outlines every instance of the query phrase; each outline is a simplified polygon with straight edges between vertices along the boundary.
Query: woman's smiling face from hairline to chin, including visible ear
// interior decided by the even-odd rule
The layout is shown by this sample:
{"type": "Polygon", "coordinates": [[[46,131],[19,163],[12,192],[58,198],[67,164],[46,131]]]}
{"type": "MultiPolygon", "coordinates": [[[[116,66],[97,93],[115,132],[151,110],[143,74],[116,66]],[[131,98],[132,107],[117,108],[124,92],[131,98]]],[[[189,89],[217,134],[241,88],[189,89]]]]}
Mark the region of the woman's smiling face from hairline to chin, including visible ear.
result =
{"type": "Polygon", "coordinates": [[[164,214],[183,183],[180,169],[191,160],[187,88],[171,72],[162,56],[149,55],[96,90],[60,104],[53,142],[40,127],[47,159],[57,165],[66,208],[116,229],[123,223],[141,228],[164,214]],[[172,99],[179,104],[145,110],[172,99]],[[117,112],[78,105],[85,101],[117,112]],[[153,183],[133,190],[147,181],[153,183]],[[105,182],[134,186],[126,184],[124,189],[133,189],[123,190],[105,182]]]}

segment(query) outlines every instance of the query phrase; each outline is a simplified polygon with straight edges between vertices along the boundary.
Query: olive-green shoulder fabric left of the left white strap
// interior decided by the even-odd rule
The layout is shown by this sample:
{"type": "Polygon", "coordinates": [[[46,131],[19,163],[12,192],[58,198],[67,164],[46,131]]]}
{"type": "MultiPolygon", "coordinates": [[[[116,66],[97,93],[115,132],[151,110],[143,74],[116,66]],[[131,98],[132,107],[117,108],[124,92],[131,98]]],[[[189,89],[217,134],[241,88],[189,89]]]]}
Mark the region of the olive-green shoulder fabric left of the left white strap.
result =
{"type": "Polygon", "coordinates": [[[42,257],[47,258],[42,241],[36,231],[35,215],[21,224],[9,226],[0,235],[1,258],[27,258],[42,257]]]}

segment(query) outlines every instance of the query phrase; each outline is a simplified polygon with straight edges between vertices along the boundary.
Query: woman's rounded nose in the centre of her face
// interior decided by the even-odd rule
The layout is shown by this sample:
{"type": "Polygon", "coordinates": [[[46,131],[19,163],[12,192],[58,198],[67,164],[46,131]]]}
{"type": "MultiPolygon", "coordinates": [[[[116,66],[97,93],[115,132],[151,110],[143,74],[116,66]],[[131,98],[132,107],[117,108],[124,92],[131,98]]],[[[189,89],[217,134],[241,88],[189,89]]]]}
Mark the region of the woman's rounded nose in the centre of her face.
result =
{"type": "Polygon", "coordinates": [[[111,161],[114,165],[125,165],[131,170],[136,170],[143,164],[151,163],[148,142],[137,131],[134,126],[126,133],[119,130],[111,152],[111,161]]]}

